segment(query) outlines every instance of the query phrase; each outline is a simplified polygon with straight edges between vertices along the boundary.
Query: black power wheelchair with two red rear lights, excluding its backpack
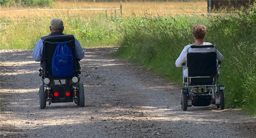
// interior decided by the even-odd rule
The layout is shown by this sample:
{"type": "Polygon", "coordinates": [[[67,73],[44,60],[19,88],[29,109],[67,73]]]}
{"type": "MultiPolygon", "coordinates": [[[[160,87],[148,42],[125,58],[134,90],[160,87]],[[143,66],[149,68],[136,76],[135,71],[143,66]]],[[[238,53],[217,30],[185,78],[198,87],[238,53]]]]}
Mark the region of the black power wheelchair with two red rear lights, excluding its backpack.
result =
{"type": "Polygon", "coordinates": [[[84,84],[80,82],[80,64],[76,59],[75,38],[73,35],[50,36],[44,39],[43,60],[39,69],[39,76],[42,77],[39,88],[40,108],[44,109],[48,101],[51,103],[73,102],[80,107],[84,107],[84,84]],[[56,77],[52,74],[52,56],[58,42],[66,42],[73,54],[73,75],[56,77]]]}

